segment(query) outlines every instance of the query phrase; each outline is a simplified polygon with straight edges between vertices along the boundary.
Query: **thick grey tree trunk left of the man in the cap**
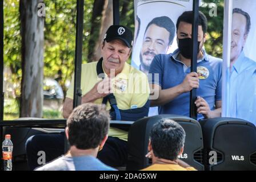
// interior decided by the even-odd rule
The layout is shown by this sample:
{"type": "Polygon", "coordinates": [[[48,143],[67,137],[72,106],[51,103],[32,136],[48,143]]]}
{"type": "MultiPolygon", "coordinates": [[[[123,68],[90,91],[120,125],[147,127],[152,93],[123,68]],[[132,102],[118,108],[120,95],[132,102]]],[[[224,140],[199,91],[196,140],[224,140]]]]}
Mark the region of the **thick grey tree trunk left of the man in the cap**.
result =
{"type": "Polygon", "coordinates": [[[42,117],[43,106],[43,28],[38,16],[41,0],[21,0],[22,82],[20,117],[42,117]]]}

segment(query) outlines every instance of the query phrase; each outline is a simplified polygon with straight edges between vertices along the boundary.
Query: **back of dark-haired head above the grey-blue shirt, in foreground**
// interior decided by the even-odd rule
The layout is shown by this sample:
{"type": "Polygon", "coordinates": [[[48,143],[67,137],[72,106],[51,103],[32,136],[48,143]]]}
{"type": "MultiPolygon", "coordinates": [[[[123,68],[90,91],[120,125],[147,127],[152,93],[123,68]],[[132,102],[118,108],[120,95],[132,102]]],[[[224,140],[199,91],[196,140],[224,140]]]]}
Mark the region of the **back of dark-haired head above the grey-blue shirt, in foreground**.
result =
{"type": "Polygon", "coordinates": [[[97,148],[109,130],[105,105],[87,103],[76,107],[67,119],[68,140],[81,150],[97,148]]]}

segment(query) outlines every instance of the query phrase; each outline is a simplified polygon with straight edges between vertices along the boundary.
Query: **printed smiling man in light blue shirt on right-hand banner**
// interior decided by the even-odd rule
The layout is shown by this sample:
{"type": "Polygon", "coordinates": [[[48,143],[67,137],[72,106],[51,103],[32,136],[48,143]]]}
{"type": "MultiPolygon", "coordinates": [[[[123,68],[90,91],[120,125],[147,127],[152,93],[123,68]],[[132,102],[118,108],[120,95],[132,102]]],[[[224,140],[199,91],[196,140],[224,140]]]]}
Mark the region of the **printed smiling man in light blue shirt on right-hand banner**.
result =
{"type": "Polygon", "coordinates": [[[250,15],[233,10],[230,55],[230,117],[256,125],[256,62],[245,56],[243,47],[250,31],[250,15]]]}

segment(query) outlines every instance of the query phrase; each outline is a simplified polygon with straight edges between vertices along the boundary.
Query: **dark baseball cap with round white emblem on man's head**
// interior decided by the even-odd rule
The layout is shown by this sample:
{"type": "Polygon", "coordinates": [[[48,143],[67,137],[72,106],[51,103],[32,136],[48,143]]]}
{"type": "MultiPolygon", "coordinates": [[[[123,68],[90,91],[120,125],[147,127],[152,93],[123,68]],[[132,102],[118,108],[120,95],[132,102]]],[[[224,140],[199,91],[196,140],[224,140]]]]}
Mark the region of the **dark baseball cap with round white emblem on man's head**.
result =
{"type": "Polygon", "coordinates": [[[107,29],[104,40],[110,42],[114,39],[122,40],[129,48],[133,46],[133,33],[125,26],[112,25],[107,29]]]}

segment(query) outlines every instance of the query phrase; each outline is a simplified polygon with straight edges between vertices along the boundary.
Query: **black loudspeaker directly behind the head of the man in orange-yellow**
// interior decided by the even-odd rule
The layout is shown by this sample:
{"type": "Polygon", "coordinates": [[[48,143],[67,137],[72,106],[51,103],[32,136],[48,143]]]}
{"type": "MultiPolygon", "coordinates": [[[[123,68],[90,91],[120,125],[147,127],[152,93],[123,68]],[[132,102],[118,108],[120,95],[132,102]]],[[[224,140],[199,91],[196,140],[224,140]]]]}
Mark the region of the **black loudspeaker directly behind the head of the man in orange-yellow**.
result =
{"type": "Polygon", "coordinates": [[[154,123],[169,118],[178,122],[186,132],[185,148],[180,158],[198,170],[203,170],[203,139],[201,125],[198,121],[181,115],[162,114],[139,119],[131,125],[128,134],[127,170],[139,170],[151,164],[145,158],[149,143],[150,130],[154,123]]]}

